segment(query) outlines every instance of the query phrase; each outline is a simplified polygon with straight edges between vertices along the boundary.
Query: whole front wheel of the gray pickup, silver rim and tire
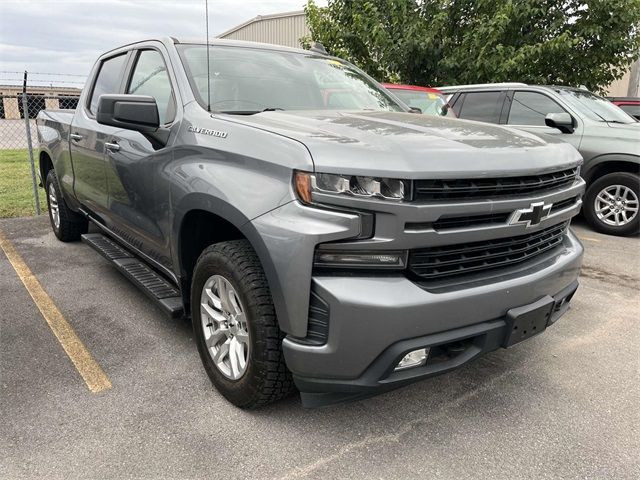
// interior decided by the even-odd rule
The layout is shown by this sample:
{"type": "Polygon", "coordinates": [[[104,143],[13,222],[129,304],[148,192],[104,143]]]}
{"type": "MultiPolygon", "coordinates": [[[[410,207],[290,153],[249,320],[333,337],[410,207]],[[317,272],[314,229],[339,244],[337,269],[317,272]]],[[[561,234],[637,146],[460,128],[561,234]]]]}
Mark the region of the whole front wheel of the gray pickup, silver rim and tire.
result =
{"type": "Polygon", "coordinates": [[[257,408],[293,390],[267,280],[246,240],[202,252],[193,275],[191,314],[204,368],[231,403],[257,408]]]}

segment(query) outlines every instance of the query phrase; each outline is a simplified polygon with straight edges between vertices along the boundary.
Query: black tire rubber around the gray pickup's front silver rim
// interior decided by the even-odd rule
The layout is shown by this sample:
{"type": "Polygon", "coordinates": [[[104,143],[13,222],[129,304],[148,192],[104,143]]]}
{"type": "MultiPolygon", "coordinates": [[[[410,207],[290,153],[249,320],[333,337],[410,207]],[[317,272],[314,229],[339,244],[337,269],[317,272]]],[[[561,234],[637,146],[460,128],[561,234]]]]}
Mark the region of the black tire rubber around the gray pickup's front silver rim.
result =
{"type": "MultiPolygon", "coordinates": [[[[258,408],[293,391],[293,379],[282,353],[278,321],[260,261],[246,240],[222,242],[208,247],[196,263],[191,286],[191,318],[198,352],[211,382],[240,408],[258,408]],[[227,279],[245,310],[249,333],[248,358],[242,377],[232,380],[213,361],[205,343],[201,320],[203,288],[213,275],[227,279]]],[[[206,319],[206,317],[205,317],[206,319]]]]}

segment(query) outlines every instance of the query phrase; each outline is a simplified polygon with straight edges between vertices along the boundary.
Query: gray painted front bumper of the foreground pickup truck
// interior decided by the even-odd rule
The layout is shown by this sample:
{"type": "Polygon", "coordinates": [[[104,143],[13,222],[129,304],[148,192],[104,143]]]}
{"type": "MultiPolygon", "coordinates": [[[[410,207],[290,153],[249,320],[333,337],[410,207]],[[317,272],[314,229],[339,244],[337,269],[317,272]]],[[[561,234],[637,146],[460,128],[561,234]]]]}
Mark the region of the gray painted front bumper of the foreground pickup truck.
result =
{"type": "Polygon", "coordinates": [[[430,292],[404,276],[314,276],[329,307],[322,346],[283,341],[287,366],[307,406],[360,398],[445,372],[505,345],[507,312],[549,298],[548,324],[569,306],[583,248],[569,232],[560,253],[491,283],[430,292]],[[449,346],[455,346],[455,355],[449,346]],[[427,364],[395,372],[409,351],[431,347],[427,364]]]}

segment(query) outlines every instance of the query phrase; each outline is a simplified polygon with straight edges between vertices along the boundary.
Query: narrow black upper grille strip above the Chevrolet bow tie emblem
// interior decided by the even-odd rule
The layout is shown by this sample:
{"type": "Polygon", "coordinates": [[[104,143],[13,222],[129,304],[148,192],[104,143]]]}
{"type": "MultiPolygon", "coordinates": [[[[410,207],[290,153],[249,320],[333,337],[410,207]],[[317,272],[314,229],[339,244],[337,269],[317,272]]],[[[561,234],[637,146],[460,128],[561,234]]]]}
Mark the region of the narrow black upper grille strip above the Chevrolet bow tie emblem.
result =
{"type": "Polygon", "coordinates": [[[525,177],[416,180],[414,200],[464,200],[480,197],[495,200],[503,196],[541,193],[570,185],[577,175],[577,168],[569,168],[525,177]]]}

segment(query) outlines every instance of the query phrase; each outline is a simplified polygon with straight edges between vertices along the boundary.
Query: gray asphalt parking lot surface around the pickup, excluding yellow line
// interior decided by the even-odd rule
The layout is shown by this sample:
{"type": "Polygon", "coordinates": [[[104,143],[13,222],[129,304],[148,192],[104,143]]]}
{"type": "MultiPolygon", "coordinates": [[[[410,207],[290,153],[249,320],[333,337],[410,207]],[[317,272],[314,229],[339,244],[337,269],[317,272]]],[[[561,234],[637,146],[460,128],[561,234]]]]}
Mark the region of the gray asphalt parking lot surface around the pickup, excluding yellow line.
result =
{"type": "Polygon", "coordinates": [[[245,412],[165,318],[44,216],[0,230],[108,376],[92,393],[0,252],[0,478],[638,478],[638,238],[578,224],[572,309],[543,335],[365,401],[245,412]]]}

